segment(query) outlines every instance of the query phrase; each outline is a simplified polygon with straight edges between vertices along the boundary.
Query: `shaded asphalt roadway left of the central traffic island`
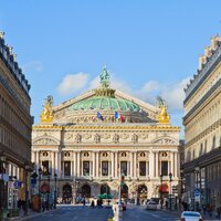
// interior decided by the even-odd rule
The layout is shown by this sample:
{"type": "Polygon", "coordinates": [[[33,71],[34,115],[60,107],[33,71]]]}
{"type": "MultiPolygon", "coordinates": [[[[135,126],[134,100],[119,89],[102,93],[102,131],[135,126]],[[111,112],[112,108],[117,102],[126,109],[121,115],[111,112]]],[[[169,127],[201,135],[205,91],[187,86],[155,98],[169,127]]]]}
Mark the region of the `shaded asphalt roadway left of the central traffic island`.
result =
{"type": "Polygon", "coordinates": [[[107,221],[112,214],[112,209],[90,208],[83,206],[59,206],[56,210],[43,213],[29,221],[107,221]]]}

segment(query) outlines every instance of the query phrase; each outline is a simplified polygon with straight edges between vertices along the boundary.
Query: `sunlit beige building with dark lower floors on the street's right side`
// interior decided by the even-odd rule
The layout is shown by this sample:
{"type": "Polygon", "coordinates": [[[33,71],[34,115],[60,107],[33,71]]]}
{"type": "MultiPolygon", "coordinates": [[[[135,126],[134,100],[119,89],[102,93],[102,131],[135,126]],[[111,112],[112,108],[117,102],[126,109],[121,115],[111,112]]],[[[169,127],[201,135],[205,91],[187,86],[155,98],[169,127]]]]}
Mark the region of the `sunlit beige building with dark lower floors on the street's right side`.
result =
{"type": "Polygon", "coordinates": [[[192,207],[210,203],[215,208],[221,202],[220,36],[211,39],[211,45],[199,59],[198,73],[185,91],[185,197],[192,207]]]}

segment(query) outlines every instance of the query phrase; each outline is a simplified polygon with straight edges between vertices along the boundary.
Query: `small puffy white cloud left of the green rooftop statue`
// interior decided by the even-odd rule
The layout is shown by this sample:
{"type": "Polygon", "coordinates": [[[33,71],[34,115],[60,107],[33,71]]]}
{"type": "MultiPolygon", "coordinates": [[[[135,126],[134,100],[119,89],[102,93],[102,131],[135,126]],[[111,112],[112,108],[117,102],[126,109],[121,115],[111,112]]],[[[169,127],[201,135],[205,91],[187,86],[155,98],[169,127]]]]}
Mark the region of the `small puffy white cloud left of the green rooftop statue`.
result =
{"type": "Polygon", "coordinates": [[[87,83],[88,75],[85,73],[69,74],[57,86],[57,91],[61,95],[71,95],[80,90],[83,90],[87,83]]]}

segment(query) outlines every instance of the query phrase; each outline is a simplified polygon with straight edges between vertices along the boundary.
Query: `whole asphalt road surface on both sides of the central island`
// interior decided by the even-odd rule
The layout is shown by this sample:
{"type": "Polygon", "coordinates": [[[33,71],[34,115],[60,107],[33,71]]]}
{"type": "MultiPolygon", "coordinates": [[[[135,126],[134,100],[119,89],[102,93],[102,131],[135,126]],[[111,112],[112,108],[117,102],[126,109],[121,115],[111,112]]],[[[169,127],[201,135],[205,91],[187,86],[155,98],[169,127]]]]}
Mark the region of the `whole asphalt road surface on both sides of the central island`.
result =
{"type": "MultiPolygon", "coordinates": [[[[147,211],[143,206],[127,204],[127,210],[123,212],[123,221],[178,221],[178,211],[147,211]]],[[[83,206],[57,206],[56,210],[31,214],[17,219],[19,221],[107,221],[113,215],[109,208],[91,208],[83,206]]],[[[211,220],[211,219],[208,219],[211,220]]],[[[207,221],[207,219],[206,219],[207,221]]],[[[214,220],[213,220],[214,221],[214,220]]]]}

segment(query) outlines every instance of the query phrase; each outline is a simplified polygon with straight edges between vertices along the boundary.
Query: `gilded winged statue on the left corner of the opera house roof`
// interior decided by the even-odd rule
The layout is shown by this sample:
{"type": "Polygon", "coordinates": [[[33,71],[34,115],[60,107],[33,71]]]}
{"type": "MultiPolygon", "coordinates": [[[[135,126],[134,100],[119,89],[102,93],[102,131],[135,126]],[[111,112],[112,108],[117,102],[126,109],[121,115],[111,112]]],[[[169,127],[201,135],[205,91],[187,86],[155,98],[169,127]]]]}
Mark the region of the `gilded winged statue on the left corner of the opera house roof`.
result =
{"type": "Polygon", "coordinates": [[[49,95],[43,103],[43,112],[40,115],[41,123],[50,123],[53,119],[53,96],[49,95]]]}

